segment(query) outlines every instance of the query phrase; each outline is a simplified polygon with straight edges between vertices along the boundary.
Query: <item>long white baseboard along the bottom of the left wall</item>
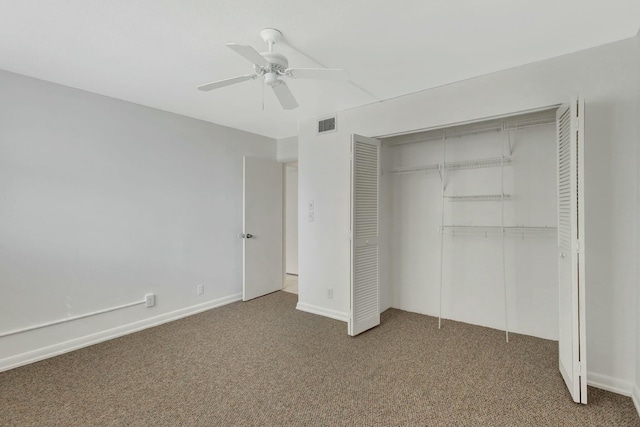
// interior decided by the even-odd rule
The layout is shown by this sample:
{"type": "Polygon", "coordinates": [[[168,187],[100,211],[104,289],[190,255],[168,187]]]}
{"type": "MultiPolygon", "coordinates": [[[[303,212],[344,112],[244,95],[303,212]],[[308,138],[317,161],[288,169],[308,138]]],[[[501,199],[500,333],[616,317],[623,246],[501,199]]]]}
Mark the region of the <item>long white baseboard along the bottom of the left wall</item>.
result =
{"type": "Polygon", "coordinates": [[[114,338],[121,337],[123,335],[128,335],[134,332],[141,331],[143,329],[162,325],[163,323],[168,323],[173,320],[178,320],[183,317],[191,316],[193,314],[211,310],[212,308],[231,304],[232,302],[236,302],[236,301],[242,301],[242,294],[229,295],[227,297],[218,298],[212,301],[207,301],[202,304],[193,305],[191,307],[182,308],[179,310],[171,311],[169,313],[164,313],[158,316],[139,320],[137,322],[129,323],[127,325],[118,326],[116,328],[96,332],[94,334],[86,335],[84,337],[75,338],[69,341],[64,341],[58,344],[39,348],[37,350],[32,350],[26,353],[0,359],[0,372],[17,368],[19,366],[28,365],[29,363],[37,362],[43,359],[48,359],[50,357],[58,356],[60,354],[69,353],[71,351],[78,350],[83,347],[88,347],[93,344],[97,344],[103,341],[108,341],[114,338]]]}

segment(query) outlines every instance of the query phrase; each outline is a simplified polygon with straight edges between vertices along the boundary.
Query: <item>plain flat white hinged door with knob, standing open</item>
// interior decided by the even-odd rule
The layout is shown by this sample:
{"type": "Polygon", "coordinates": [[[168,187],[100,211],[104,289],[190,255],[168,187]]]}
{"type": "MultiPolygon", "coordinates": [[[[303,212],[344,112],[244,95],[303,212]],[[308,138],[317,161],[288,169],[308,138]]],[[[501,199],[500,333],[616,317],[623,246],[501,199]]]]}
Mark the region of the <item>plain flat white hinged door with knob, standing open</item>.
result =
{"type": "Polygon", "coordinates": [[[242,300],[282,289],[282,164],[244,158],[242,300]]]}

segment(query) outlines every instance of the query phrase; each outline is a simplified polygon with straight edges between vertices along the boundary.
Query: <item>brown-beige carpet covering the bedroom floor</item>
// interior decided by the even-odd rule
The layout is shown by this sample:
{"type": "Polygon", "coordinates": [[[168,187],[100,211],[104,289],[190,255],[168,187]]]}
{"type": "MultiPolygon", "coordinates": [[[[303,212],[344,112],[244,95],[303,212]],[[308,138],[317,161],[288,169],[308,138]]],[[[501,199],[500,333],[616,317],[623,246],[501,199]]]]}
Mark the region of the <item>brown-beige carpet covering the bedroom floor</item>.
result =
{"type": "Polygon", "coordinates": [[[276,292],[0,373],[0,425],[640,425],[574,404],[557,344],[388,310],[359,337],[276,292]]]}

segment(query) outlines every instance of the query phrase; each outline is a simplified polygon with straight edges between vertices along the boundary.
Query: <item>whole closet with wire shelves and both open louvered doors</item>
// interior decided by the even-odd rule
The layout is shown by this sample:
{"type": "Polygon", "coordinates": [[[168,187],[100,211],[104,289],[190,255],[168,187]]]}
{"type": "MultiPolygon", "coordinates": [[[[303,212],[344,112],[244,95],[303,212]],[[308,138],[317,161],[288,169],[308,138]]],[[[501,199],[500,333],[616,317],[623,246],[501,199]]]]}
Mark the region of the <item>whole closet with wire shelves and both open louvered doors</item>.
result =
{"type": "Polygon", "coordinates": [[[349,334],[394,307],[557,340],[587,403],[584,113],[352,135],[349,334]]]}

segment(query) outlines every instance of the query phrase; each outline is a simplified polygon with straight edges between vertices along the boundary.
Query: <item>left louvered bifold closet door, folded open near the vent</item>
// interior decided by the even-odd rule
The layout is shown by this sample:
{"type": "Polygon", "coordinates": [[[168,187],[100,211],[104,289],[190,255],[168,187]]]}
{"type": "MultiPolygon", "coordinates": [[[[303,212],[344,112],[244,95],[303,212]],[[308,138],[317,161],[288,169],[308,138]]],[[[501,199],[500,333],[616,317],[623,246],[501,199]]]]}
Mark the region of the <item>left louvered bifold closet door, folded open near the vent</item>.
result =
{"type": "Polygon", "coordinates": [[[349,335],[380,324],[380,141],[351,137],[351,307],[349,335]]]}

